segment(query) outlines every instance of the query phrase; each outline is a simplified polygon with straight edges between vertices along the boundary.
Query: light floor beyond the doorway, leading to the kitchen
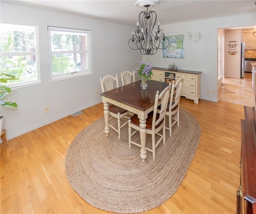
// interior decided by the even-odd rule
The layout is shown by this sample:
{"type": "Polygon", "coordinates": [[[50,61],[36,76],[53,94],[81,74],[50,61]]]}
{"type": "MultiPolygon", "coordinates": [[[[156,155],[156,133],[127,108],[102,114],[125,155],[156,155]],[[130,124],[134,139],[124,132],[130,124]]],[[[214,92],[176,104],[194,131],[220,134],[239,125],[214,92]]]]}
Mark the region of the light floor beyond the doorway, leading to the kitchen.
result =
{"type": "Polygon", "coordinates": [[[245,77],[224,78],[218,89],[218,99],[238,105],[255,105],[255,91],[252,90],[252,73],[245,73],[245,77]]]}

